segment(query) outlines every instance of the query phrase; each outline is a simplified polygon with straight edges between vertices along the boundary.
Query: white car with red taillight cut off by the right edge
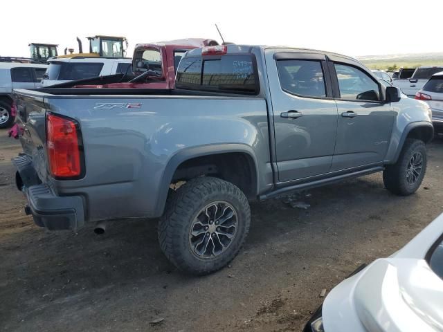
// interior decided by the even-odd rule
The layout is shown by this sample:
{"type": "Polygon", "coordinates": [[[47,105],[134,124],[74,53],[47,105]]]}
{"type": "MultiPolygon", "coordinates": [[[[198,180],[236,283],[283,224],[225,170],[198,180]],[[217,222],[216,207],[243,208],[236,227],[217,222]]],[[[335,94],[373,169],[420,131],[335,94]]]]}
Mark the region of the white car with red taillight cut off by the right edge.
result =
{"type": "Polygon", "coordinates": [[[443,71],[432,75],[423,89],[415,94],[415,99],[428,103],[435,133],[443,133],[443,71]]]}

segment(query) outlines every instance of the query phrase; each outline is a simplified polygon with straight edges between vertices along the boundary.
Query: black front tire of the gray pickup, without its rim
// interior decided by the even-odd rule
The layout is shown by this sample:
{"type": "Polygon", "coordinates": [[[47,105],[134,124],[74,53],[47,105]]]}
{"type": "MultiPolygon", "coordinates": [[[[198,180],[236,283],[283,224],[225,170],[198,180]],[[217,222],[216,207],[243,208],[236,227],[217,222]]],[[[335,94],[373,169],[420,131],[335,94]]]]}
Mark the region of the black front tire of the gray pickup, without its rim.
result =
{"type": "Polygon", "coordinates": [[[400,196],[408,196],[413,194],[422,184],[424,174],[426,173],[426,165],[427,157],[424,142],[422,140],[413,138],[406,139],[397,163],[386,166],[385,170],[383,171],[383,183],[386,189],[393,194],[400,196]],[[408,165],[411,158],[413,158],[413,156],[417,153],[421,154],[423,158],[422,169],[419,176],[417,176],[417,181],[414,183],[408,183],[406,179],[408,165]]]}

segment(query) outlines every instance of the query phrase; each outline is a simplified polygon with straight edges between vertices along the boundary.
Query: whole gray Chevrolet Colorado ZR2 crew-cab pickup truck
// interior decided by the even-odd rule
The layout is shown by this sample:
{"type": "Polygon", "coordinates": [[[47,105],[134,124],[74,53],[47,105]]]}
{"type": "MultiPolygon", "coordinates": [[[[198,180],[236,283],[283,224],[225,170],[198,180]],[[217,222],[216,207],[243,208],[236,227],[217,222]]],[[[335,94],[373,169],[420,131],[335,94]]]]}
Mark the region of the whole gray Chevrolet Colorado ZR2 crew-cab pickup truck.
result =
{"type": "Polygon", "coordinates": [[[186,53],[176,89],[17,90],[26,212],[49,230],[159,218],[181,270],[231,261],[248,200],[383,172],[413,194],[433,138],[427,104],[356,60],[318,50],[210,46],[186,53]]]}

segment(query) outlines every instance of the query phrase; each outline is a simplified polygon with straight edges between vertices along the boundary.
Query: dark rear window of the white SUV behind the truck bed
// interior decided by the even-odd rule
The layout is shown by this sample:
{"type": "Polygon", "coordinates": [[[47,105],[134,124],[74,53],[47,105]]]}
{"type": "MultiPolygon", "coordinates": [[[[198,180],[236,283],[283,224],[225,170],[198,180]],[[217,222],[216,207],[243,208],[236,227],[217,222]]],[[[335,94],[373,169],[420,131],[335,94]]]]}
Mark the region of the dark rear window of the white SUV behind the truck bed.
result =
{"type": "Polygon", "coordinates": [[[72,81],[97,77],[102,71],[102,62],[51,62],[46,71],[47,80],[72,81]]]}

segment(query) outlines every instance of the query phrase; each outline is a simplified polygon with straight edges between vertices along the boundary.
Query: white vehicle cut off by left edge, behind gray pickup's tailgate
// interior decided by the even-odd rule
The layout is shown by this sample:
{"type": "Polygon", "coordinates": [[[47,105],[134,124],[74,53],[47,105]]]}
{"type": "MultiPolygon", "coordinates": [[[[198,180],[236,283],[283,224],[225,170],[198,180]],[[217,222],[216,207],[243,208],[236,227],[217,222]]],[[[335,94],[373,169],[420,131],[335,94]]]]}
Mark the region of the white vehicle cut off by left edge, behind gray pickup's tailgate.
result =
{"type": "Polygon", "coordinates": [[[39,88],[46,68],[45,64],[0,62],[0,129],[14,122],[12,90],[39,88]]]}

